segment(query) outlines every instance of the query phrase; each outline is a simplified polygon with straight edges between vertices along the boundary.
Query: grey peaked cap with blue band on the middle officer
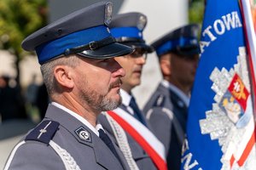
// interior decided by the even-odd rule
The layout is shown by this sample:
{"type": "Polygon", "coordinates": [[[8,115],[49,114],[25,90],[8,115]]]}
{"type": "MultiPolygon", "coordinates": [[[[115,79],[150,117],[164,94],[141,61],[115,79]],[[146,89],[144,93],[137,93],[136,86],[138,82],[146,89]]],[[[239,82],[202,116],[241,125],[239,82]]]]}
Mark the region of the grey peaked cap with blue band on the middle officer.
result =
{"type": "Polygon", "coordinates": [[[143,48],[143,50],[151,53],[154,49],[147,45],[143,39],[143,30],[147,22],[146,15],[141,13],[117,14],[113,16],[109,28],[117,42],[132,48],[143,48]]]}

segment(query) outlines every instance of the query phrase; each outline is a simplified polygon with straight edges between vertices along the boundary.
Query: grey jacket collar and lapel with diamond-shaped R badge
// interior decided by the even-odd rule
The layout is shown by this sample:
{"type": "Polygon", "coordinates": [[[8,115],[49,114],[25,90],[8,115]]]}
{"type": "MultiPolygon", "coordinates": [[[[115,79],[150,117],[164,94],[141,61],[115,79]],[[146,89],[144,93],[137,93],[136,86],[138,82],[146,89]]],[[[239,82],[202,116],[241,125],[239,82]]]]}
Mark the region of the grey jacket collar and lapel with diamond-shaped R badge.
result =
{"type": "MultiPolygon", "coordinates": [[[[102,167],[109,170],[124,169],[125,166],[122,167],[118,159],[113,155],[112,151],[108,149],[108,146],[104,144],[102,139],[100,139],[96,133],[92,132],[89,127],[86,127],[82,122],[79,122],[79,120],[66,111],[54,105],[49,105],[46,111],[46,117],[60,122],[61,126],[66,127],[69,133],[73,133],[74,138],[76,138],[80,144],[91,147],[94,150],[96,162],[102,167]],[[85,134],[81,134],[82,131],[85,132],[85,134]]],[[[120,157],[122,157],[119,149],[117,149],[117,151],[118,154],[121,155],[120,157]]]]}

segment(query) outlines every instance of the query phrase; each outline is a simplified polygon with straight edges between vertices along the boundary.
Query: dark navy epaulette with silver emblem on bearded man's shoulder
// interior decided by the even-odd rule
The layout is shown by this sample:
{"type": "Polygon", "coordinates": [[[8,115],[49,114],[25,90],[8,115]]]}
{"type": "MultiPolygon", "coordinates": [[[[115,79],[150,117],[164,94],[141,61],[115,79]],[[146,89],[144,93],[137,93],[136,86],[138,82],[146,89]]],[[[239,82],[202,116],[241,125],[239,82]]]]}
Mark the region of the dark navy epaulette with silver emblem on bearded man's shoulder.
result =
{"type": "Polygon", "coordinates": [[[25,141],[36,140],[44,144],[49,144],[50,139],[54,137],[59,125],[59,122],[49,120],[43,121],[26,135],[25,141]]]}

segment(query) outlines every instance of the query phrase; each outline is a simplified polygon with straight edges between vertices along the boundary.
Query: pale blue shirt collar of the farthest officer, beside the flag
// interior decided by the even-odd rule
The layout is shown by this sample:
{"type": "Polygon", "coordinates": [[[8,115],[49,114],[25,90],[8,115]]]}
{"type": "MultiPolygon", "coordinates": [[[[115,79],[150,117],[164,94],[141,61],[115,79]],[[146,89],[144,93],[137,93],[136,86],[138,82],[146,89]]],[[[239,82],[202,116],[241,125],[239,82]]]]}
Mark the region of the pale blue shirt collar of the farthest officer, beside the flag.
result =
{"type": "Polygon", "coordinates": [[[190,97],[187,96],[186,94],[183,93],[183,91],[181,91],[179,88],[177,88],[176,86],[174,86],[171,82],[167,82],[166,80],[162,80],[161,84],[166,87],[171,89],[175,94],[177,94],[177,96],[183,100],[184,104],[189,107],[189,100],[190,97]]]}

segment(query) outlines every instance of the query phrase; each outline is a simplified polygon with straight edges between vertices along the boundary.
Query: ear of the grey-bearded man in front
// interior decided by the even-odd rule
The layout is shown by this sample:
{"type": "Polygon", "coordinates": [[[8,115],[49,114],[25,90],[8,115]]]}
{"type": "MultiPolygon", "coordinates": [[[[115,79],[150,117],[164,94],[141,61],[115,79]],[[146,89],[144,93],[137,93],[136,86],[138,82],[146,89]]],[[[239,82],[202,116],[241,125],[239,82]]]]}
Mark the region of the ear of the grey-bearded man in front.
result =
{"type": "Polygon", "coordinates": [[[73,88],[74,82],[71,77],[71,69],[67,65],[57,65],[54,70],[56,81],[65,88],[73,88]]]}

